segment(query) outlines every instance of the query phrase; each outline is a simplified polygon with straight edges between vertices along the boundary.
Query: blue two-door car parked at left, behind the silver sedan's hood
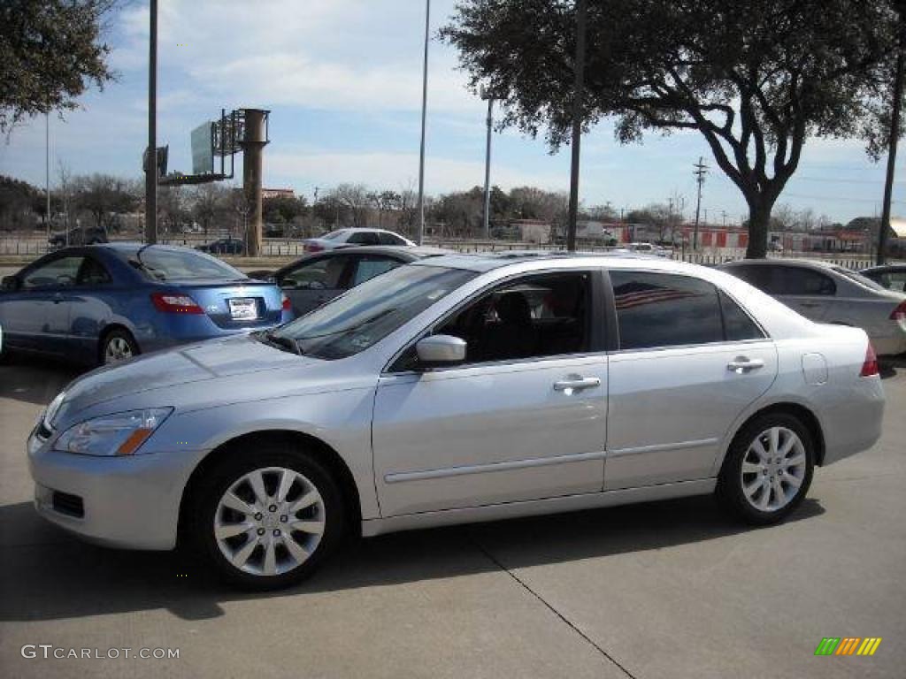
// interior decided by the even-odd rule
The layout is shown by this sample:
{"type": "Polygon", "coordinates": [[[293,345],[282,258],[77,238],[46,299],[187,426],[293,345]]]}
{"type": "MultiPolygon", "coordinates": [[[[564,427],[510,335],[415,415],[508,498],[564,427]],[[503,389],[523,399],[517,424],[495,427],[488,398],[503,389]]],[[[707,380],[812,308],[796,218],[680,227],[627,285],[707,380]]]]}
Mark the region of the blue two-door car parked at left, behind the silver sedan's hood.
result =
{"type": "Polygon", "coordinates": [[[64,248],[3,279],[4,350],[95,364],[292,320],[273,283],[165,245],[64,248]]]}

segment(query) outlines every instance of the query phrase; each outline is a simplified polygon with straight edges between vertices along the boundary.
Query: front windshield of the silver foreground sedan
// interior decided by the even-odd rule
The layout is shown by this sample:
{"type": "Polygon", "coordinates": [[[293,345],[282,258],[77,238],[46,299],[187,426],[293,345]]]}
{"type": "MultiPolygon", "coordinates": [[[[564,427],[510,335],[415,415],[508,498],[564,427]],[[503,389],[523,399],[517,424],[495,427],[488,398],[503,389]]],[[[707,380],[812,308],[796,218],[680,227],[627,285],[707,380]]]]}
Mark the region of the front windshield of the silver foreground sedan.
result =
{"type": "Polygon", "coordinates": [[[387,337],[477,274],[434,266],[400,266],[273,334],[293,339],[306,356],[344,359],[387,337]]]}

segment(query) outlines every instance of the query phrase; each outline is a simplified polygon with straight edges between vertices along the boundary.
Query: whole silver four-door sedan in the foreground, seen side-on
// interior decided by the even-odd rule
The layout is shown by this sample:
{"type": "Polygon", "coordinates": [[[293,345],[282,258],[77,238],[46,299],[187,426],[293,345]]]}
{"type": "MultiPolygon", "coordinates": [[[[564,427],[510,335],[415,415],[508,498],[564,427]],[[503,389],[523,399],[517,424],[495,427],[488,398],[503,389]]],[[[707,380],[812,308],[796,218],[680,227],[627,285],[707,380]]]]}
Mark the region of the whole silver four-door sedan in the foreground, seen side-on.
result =
{"type": "Polygon", "coordinates": [[[72,382],[28,440],[87,540],[282,587],[344,534],[702,493],[781,521],[882,428],[863,330],[660,258],[445,256],[72,382]]]}

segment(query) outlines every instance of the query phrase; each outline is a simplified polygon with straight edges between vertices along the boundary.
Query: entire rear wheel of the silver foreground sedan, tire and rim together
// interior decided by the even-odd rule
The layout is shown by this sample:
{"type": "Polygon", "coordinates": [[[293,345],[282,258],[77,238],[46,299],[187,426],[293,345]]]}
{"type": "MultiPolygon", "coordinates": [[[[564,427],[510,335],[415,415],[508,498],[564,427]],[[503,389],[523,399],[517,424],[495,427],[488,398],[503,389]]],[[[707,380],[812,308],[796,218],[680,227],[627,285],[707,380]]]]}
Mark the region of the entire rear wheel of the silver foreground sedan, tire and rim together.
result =
{"type": "Polygon", "coordinates": [[[718,497],[749,523],[783,521],[805,499],[814,442],[795,416],[769,413],[744,426],[718,478],[718,497]]]}

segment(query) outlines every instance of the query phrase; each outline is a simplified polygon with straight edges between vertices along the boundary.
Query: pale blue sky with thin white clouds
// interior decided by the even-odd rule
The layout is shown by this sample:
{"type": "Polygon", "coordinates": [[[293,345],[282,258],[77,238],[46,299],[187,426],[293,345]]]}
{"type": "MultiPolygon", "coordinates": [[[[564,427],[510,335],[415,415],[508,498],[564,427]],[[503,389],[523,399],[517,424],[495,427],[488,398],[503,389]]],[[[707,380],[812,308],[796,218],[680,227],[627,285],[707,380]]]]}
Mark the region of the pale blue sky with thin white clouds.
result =
{"type": "MultiPolygon", "coordinates": [[[[418,179],[424,2],[421,0],[159,0],[160,144],[170,169],[191,170],[189,132],[221,107],[264,108],[272,143],[265,186],[292,186],[310,199],[341,182],[400,190],[418,179]]],[[[432,32],[455,0],[432,0],[432,32]]],[[[82,98],[82,110],[51,119],[51,181],[62,162],[75,174],[139,177],[147,139],[148,10],[135,2],[106,35],[119,80],[82,98]]],[[[465,88],[457,55],[433,41],[429,61],[426,190],[439,194],[484,181],[485,103],[465,88]]],[[[616,208],[685,197],[694,211],[692,164],[712,167],[704,188],[708,220],[729,222],[745,203],[710,159],[697,133],[649,136],[621,147],[604,122],[583,139],[586,205],[616,208]]],[[[241,173],[241,162],[237,163],[241,173]]],[[[43,185],[44,121],[0,141],[0,174],[43,185]]],[[[884,168],[856,141],[810,140],[778,204],[810,207],[848,221],[880,213],[884,168]]],[[[569,149],[551,155],[543,139],[495,134],[492,181],[565,190],[569,149]]],[[[894,213],[906,213],[898,170],[894,213]],[[902,201],[902,202],[900,202],[902,201]]]]}

